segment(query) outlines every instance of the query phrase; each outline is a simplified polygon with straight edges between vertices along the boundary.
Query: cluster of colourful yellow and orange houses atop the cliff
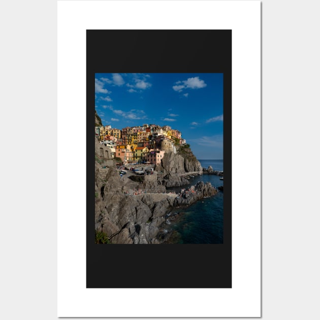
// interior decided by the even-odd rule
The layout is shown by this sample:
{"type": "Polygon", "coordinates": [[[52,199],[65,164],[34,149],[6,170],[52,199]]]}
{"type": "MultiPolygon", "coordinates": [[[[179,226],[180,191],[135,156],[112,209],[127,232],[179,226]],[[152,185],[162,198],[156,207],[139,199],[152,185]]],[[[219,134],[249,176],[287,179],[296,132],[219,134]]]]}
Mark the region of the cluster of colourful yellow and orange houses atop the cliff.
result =
{"type": "Polygon", "coordinates": [[[143,124],[119,130],[96,123],[95,137],[110,149],[115,161],[124,166],[135,163],[158,166],[165,152],[176,153],[179,146],[186,144],[181,132],[169,125],[143,124]]]}

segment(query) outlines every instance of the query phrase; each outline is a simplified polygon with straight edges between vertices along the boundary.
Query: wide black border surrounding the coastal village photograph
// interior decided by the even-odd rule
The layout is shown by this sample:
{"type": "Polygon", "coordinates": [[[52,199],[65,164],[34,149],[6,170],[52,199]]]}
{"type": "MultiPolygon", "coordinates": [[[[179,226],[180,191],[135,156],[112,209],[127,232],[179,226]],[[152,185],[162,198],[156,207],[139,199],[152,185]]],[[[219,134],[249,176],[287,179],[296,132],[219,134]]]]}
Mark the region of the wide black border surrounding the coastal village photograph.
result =
{"type": "Polygon", "coordinates": [[[86,54],[86,287],[231,288],[232,30],[86,30],[86,54]],[[223,244],[94,244],[95,73],[223,73],[223,244]]]}

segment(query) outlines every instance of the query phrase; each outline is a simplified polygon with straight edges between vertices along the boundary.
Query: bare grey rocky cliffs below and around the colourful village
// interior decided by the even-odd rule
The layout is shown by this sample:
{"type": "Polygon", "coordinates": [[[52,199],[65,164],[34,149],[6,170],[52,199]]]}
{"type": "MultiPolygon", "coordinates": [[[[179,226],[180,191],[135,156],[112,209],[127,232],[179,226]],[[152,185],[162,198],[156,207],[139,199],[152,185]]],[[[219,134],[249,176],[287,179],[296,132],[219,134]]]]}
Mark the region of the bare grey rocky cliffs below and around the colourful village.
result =
{"type": "Polygon", "coordinates": [[[183,188],[187,175],[203,173],[200,162],[186,147],[176,154],[165,153],[152,175],[126,172],[119,175],[109,149],[96,140],[95,230],[106,234],[111,243],[163,243],[166,239],[160,227],[173,208],[189,206],[219,192],[210,182],[202,181],[183,188]],[[166,189],[172,186],[181,186],[181,192],[166,189]]]}

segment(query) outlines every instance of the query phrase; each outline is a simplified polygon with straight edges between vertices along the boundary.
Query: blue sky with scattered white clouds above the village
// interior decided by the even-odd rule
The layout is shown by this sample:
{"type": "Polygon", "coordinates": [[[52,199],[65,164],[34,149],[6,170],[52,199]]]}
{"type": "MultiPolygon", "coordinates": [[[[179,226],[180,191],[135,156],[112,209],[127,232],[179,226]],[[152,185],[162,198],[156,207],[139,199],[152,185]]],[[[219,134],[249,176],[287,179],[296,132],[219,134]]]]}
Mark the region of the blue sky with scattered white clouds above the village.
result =
{"type": "Polygon", "coordinates": [[[95,74],[95,110],[113,128],[179,130],[198,159],[223,159],[223,74],[95,74]]]}

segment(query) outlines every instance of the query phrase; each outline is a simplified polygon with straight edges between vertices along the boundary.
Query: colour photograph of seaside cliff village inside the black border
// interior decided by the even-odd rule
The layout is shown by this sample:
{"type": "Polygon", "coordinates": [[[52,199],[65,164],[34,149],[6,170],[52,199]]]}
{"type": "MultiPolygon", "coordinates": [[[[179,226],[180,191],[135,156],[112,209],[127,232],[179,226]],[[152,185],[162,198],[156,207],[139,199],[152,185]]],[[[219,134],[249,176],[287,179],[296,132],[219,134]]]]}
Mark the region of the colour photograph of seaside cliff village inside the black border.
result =
{"type": "Polygon", "coordinates": [[[95,244],[223,244],[223,73],[94,76],[95,244]]]}

